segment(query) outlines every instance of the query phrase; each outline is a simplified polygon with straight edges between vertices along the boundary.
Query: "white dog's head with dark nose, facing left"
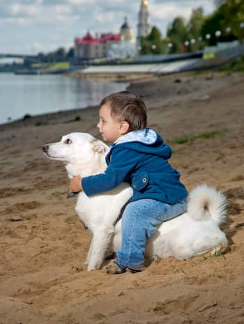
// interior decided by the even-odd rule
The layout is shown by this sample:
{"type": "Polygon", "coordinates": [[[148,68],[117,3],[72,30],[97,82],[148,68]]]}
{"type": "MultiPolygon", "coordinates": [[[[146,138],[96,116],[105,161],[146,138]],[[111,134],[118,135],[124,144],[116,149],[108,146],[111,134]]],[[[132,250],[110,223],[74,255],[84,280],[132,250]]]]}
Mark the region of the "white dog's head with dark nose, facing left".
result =
{"type": "Polygon", "coordinates": [[[45,144],[43,152],[50,160],[63,161],[66,164],[86,164],[96,155],[105,155],[108,146],[87,133],[67,134],[56,143],[45,144]]]}

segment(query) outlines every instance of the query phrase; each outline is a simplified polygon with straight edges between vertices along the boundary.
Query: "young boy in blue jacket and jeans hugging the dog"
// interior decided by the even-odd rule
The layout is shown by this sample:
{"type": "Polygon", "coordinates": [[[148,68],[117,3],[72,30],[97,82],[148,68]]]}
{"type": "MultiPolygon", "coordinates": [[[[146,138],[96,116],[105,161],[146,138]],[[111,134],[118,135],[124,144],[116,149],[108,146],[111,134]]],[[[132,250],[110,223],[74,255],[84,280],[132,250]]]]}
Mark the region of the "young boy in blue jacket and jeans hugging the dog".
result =
{"type": "Polygon", "coordinates": [[[105,141],[112,142],[106,156],[105,173],[70,179],[73,192],[87,196],[112,190],[128,182],[133,196],[122,216],[122,245],[107,273],[144,270],[146,240],[158,224],[185,212],[187,190],[180,173],[168,159],[171,148],[155,130],[146,128],[146,106],[129,91],[113,93],[100,103],[98,128],[105,141]]]}

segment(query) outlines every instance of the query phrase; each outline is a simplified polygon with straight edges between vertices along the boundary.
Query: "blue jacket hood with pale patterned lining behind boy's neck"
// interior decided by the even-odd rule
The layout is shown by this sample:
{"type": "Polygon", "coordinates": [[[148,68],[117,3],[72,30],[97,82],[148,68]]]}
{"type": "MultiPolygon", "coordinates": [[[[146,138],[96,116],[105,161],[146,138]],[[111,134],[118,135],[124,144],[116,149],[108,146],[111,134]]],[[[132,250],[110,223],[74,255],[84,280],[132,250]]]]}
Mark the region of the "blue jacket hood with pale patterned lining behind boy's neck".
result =
{"type": "Polygon", "coordinates": [[[112,146],[123,146],[138,153],[153,154],[169,159],[171,148],[165,144],[162,137],[151,128],[134,130],[120,137],[112,146]]]}

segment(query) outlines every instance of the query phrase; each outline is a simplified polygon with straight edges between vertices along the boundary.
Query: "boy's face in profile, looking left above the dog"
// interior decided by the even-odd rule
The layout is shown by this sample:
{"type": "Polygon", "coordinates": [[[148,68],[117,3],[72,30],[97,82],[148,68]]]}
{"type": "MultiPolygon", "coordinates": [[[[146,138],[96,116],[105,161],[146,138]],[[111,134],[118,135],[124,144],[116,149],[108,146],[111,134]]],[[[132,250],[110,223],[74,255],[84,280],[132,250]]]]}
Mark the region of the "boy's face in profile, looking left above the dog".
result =
{"type": "Polygon", "coordinates": [[[100,107],[98,128],[104,141],[114,142],[128,130],[127,122],[118,121],[116,116],[111,116],[111,105],[107,102],[100,107]]]}

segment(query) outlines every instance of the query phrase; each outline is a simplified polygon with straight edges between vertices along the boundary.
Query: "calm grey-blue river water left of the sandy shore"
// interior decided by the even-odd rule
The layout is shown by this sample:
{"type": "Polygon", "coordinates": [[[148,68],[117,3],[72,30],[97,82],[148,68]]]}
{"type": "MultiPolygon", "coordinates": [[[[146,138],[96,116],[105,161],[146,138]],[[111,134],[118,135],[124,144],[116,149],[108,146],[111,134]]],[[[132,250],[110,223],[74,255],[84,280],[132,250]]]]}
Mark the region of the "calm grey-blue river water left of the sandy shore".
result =
{"type": "Polygon", "coordinates": [[[48,112],[98,105],[109,93],[128,83],[75,79],[61,75],[0,73],[0,124],[48,112]]]}

